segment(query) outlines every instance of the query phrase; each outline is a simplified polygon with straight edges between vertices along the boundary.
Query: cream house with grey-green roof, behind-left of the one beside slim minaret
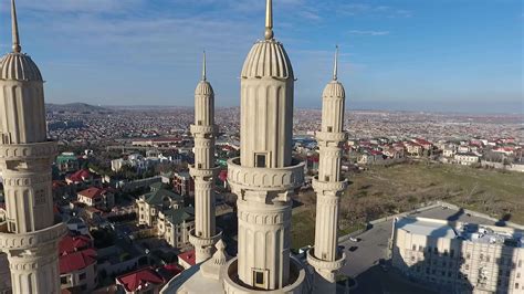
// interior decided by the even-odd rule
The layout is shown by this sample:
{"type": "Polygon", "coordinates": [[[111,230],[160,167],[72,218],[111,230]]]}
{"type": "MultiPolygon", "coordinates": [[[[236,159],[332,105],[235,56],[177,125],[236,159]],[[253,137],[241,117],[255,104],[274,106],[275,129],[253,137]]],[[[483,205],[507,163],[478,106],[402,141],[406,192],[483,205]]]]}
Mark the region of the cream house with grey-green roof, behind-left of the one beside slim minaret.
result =
{"type": "Polygon", "coordinates": [[[161,188],[161,183],[150,186],[151,191],[136,200],[138,223],[156,227],[158,212],[168,209],[178,209],[184,206],[184,197],[161,188]]]}

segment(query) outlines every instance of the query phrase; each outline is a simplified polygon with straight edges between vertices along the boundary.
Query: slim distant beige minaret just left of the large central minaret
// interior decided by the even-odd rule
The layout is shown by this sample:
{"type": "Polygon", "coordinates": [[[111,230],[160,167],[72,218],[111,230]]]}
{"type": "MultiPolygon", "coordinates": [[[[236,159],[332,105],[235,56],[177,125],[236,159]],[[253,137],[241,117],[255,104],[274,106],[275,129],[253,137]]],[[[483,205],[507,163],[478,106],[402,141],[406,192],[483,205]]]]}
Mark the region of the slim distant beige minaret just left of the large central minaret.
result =
{"type": "Polygon", "coordinates": [[[214,93],[206,76],[206,52],[202,62],[202,81],[195,91],[195,165],[190,167],[195,179],[195,230],[189,241],[195,246],[197,263],[210,259],[221,233],[214,228],[214,93]]]}

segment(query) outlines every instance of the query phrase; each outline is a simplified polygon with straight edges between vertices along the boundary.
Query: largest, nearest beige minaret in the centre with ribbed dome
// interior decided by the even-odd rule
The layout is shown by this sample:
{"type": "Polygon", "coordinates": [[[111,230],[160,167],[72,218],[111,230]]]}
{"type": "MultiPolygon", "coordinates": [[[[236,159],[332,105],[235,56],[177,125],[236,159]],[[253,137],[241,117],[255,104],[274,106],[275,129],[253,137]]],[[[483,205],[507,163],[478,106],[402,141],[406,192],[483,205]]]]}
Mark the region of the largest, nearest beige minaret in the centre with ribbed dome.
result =
{"type": "Polygon", "coordinates": [[[242,69],[241,157],[228,161],[228,182],[238,196],[239,243],[227,270],[227,293],[287,293],[303,283],[300,265],[290,258],[291,197],[304,181],[304,165],[292,158],[294,75],[274,39],[271,0],[264,36],[242,69]]]}

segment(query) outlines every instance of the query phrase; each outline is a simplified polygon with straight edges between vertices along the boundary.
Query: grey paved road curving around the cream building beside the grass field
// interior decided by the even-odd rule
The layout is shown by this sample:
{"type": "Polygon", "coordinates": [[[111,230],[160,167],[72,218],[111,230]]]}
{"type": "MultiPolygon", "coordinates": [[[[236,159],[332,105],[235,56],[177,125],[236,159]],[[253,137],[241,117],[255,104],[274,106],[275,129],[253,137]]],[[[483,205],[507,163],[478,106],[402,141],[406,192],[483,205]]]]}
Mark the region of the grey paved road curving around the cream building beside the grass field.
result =
{"type": "MultiPolygon", "coordinates": [[[[464,212],[436,208],[423,212],[413,213],[413,217],[453,220],[482,224],[494,224],[493,221],[469,217],[464,212]]],[[[385,273],[378,266],[380,259],[388,259],[388,240],[391,237],[392,220],[376,224],[373,229],[358,235],[361,241],[346,241],[346,264],[340,270],[342,274],[356,277],[359,286],[353,293],[429,293],[417,285],[402,279],[395,270],[385,273]],[[357,250],[349,251],[352,246],[357,250]]]]}

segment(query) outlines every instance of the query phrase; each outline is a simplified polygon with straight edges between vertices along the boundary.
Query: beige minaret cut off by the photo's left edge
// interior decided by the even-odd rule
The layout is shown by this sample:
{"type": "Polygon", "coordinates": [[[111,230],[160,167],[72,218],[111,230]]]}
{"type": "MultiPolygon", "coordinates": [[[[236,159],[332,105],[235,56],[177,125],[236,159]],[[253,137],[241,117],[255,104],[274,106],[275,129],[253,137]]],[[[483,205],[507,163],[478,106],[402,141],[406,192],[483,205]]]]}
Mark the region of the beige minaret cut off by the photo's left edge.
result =
{"type": "Polygon", "coordinates": [[[60,293],[57,242],[66,228],[53,216],[51,165],[57,149],[46,139],[42,75],[21,53],[14,0],[11,13],[12,52],[0,63],[0,169],[7,207],[0,250],[8,254],[13,293],[60,293]]]}

